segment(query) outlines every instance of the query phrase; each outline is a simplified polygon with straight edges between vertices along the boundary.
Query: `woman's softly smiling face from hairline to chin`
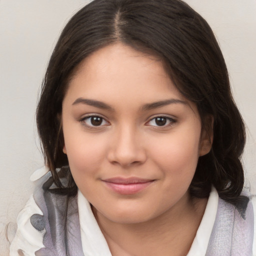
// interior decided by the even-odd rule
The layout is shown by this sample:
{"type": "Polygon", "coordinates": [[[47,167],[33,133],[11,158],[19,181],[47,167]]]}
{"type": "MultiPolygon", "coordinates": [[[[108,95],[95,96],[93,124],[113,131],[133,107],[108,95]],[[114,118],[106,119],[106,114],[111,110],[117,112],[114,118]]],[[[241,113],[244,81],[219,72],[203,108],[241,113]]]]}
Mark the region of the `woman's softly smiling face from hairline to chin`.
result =
{"type": "Polygon", "coordinates": [[[198,156],[209,150],[196,106],[162,62],[121,43],[80,64],[62,124],[75,183],[97,214],[119,223],[184,208],[198,156]]]}

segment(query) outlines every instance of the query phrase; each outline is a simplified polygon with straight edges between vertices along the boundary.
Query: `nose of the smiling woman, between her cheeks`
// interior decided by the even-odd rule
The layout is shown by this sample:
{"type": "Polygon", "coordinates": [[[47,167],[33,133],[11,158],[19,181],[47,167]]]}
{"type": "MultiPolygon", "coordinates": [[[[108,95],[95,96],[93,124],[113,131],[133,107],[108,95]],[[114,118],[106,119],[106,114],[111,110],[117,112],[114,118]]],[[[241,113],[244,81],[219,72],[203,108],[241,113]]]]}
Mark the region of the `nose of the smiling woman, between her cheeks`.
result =
{"type": "Polygon", "coordinates": [[[146,151],[142,139],[136,129],[128,126],[115,131],[113,139],[110,140],[108,150],[108,161],[119,164],[122,167],[142,164],[146,160],[146,151]]]}

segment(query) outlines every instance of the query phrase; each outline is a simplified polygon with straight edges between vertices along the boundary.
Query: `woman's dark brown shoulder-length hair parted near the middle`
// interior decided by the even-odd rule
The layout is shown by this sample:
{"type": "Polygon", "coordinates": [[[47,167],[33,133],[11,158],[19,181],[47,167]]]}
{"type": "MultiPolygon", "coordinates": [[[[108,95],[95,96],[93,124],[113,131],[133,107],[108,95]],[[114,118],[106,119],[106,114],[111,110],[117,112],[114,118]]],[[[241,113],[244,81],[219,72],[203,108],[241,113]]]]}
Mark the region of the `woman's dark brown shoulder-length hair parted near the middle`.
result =
{"type": "Polygon", "coordinates": [[[90,53],[116,41],[159,56],[178,90],[195,102],[202,127],[210,129],[210,152],[199,157],[190,193],[206,197],[213,185],[221,198],[246,205],[241,196],[244,174],[240,156],[244,124],[233,101],[227,68],[207,22],[181,0],[94,0],[64,27],[42,83],[36,118],[45,162],[61,192],[74,195],[77,187],[62,152],[59,116],[68,81],[90,53]],[[59,171],[59,168],[61,171],[59,171]],[[60,177],[68,179],[63,187],[60,177]]]}

